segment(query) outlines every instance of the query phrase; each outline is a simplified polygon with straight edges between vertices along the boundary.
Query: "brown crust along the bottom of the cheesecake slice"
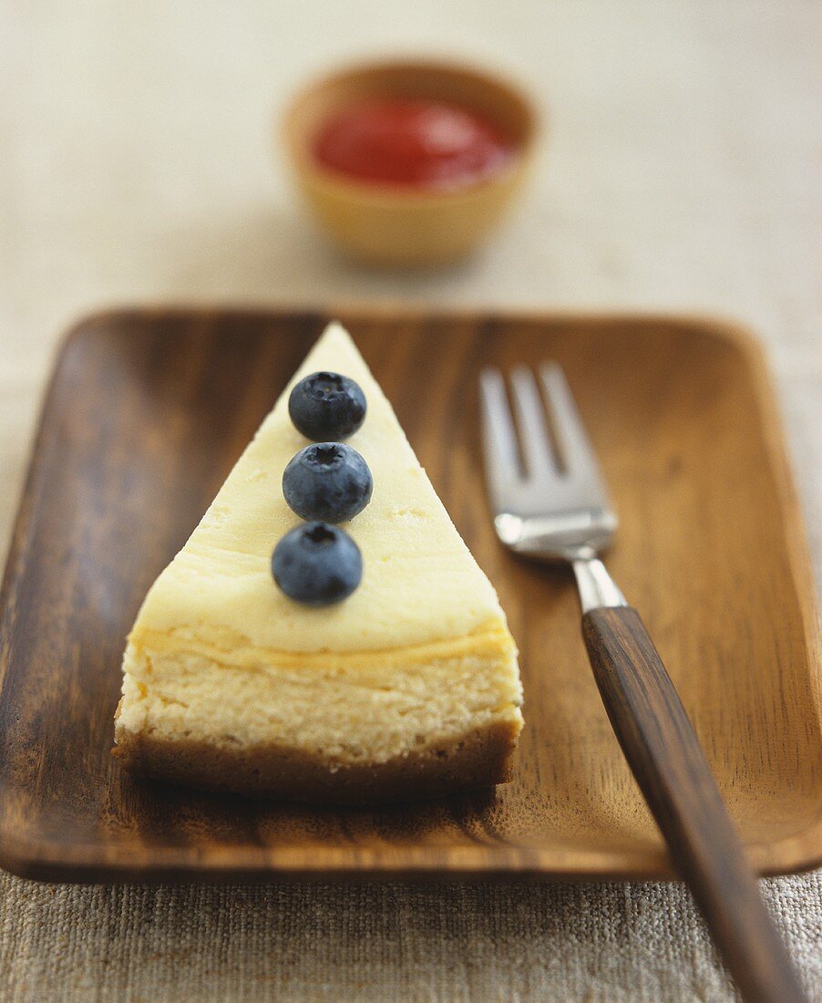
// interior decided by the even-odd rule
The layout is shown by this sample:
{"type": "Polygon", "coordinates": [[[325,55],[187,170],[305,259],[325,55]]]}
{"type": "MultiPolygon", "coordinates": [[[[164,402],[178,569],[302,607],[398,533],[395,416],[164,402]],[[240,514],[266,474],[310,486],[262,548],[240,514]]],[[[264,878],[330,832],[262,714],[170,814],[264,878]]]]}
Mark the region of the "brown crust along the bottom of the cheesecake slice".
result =
{"type": "Polygon", "coordinates": [[[281,744],[211,743],[121,731],[112,750],[132,773],[207,790],[313,804],[386,804],[504,783],[519,724],[494,721],[459,738],[373,761],[330,761],[281,744]]]}

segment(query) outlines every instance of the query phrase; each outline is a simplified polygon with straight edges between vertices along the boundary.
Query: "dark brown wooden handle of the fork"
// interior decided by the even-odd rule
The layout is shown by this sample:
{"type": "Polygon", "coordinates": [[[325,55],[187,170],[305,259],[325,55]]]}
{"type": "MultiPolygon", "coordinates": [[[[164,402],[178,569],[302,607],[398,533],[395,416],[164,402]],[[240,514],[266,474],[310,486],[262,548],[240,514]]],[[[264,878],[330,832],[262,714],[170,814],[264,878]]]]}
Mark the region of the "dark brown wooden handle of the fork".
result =
{"type": "Polygon", "coordinates": [[[582,635],[607,716],[743,999],[804,999],[694,727],[640,615],[594,609],[582,635]]]}

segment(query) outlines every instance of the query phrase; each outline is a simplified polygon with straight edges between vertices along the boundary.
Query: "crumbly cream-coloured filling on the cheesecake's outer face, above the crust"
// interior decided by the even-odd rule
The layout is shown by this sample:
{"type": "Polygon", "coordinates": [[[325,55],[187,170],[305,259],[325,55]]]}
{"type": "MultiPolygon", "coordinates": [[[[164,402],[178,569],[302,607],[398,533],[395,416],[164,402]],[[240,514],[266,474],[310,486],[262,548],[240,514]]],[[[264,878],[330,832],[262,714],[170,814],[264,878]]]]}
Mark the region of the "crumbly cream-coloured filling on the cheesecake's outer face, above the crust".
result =
{"type": "MultiPolygon", "coordinates": [[[[159,640],[159,639],[157,639],[159,640]]],[[[280,745],[338,762],[387,762],[507,722],[519,730],[515,650],[501,631],[416,650],[258,656],[209,645],[129,645],[117,739],[280,745]]]]}

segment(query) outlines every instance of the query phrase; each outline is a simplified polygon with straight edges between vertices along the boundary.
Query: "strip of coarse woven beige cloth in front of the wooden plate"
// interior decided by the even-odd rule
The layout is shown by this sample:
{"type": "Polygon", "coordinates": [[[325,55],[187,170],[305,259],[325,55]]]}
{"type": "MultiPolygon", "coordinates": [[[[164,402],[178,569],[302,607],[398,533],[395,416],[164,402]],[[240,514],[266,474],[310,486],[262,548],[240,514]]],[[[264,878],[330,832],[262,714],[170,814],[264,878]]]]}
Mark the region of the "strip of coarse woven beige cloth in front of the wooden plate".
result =
{"type": "MultiPolygon", "coordinates": [[[[764,889],[822,998],[822,875],[764,889]]],[[[5,1000],[691,1001],[732,990],[679,885],[0,883],[5,1000]]]]}

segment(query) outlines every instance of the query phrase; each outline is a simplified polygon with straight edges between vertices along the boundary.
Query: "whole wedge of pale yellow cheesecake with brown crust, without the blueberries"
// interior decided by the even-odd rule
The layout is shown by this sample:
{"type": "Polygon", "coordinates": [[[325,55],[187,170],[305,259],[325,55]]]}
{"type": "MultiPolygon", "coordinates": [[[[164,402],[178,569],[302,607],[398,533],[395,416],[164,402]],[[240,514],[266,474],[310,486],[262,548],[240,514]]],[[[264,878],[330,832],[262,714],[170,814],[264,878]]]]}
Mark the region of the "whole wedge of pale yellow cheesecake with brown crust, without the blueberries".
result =
{"type": "Polygon", "coordinates": [[[195,786],[306,801],[404,800],[500,783],[522,726],[516,649],[480,571],[348,334],[332,324],[142,604],[115,754],[195,786]],[[301,521],[281,480],[307,445],[291,385],[365,391],[347,442],[374,478],[344,529],[363,577],[322,609],[289,599],[272,550],[301,521]]]}

